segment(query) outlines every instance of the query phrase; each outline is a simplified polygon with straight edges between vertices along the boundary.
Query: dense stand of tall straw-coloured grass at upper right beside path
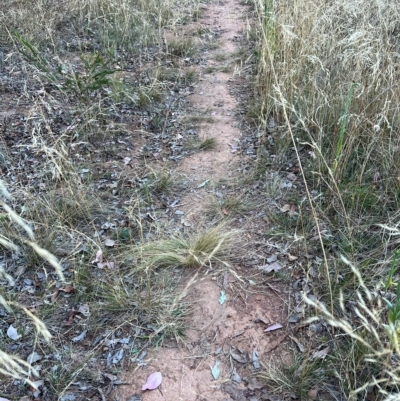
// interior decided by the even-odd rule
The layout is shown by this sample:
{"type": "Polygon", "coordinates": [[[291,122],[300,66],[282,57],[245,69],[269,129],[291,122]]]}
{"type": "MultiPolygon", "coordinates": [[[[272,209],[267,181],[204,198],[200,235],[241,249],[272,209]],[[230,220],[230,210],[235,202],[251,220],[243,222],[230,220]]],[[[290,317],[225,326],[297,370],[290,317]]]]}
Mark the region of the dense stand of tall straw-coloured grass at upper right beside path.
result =
{"type": "MultiPolygon", "coordinates": [[[[396,206],[400,153],[400,8],[384,1],[265,0],[258,85],[265,122],[288,114],[296,140],[346,186],[372,186],[396,206]],[[273,65],[273,74],[271,71],[273,65]],[[272,77],[274,75],[274,77],[272,77]]],[[[282,134],[280,143],[290,139],[282,134]]],[[[279,142],[278,140],[276,141],[279,142]]],[[[284,152],[285,147],[278,150],[284,152]]],[[[383,200],[383,199],[382,199],[383,200]]]]}

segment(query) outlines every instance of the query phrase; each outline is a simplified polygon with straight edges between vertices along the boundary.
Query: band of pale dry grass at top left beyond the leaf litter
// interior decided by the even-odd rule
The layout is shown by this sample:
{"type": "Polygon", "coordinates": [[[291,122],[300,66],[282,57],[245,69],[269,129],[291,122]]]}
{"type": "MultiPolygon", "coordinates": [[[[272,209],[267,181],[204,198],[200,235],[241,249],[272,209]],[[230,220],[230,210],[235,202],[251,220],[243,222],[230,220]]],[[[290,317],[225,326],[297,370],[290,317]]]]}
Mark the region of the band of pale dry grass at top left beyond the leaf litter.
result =
{"type": "Polygon", "coordinates": [[[65,48],[90,51],[99,46],[137,52],[142,45],[159,43],[161,28],[190,20],[198,9],[190,1],[157,0],[3,0],[0,5],[1,41],[9,42],[9,33],[16,29],[35,43],[51,46],[56,53],[65,48]]]}

